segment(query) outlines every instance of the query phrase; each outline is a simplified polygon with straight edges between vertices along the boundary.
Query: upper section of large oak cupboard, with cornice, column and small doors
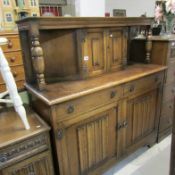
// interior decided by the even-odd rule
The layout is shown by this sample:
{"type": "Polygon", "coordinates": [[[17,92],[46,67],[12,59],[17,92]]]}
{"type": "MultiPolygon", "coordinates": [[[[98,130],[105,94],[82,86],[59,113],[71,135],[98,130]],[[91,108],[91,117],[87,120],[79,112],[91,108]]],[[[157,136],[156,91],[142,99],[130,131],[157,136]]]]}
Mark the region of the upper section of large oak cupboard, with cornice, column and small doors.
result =
{"type": "Polygon", "coordinates": [[[116,17],[18,21],[27,83],[42,90],[47,83],[121,70],[127,65],[131,28],[149,30],[151,21],[116,17]]]}

